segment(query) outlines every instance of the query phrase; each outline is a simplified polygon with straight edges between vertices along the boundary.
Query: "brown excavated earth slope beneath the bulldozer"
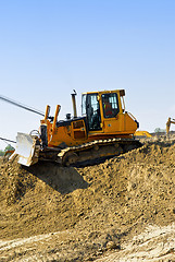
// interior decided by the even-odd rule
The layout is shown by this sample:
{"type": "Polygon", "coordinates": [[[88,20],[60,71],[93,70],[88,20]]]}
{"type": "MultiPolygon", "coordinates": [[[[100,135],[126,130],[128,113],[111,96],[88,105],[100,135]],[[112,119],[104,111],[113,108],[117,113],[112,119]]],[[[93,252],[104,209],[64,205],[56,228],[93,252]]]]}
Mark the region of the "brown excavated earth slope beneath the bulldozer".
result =
{"type": "Polygon", "coordinates": [[[84,168],[1,160],[0,181],[0,261],[175,261],[175,140],[84,168]]]}

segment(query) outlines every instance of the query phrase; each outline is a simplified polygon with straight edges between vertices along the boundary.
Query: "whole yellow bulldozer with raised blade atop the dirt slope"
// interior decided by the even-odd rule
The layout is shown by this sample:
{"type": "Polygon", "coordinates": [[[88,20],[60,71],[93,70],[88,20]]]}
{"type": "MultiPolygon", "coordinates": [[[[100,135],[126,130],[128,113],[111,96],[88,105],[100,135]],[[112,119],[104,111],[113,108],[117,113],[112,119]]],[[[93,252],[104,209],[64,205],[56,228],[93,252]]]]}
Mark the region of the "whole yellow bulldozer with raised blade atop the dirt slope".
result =
{"type": "Polygon", "coordinates": [[[125,90],[83,93],[82,117],[77,117],[76,95],[74,91],[73,117],[66,114],[65,120],[58,120],[60,105],[54,117],[50,117],[47,105],[39,130],[17,133],[11,157],[17,155],[18,163],[25,166],[38,160],[74,166],[117,156],[142,145],[134,136],[139,123],[125,110],[125,90]]]}

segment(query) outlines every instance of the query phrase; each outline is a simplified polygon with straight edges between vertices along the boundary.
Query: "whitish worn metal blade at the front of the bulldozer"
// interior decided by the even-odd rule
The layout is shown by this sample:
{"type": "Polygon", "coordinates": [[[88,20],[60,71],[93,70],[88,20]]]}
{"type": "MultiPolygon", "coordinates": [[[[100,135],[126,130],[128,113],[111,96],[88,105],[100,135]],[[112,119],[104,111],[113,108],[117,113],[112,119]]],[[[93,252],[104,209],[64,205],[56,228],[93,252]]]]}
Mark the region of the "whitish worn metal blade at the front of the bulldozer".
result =
{"type": "Polygon", "coordinates": [[[18,164],[30,166],[38,162],[40,145],[37,139],[29,134],[17,133],[15,154],[18,155],[18,164]]]}

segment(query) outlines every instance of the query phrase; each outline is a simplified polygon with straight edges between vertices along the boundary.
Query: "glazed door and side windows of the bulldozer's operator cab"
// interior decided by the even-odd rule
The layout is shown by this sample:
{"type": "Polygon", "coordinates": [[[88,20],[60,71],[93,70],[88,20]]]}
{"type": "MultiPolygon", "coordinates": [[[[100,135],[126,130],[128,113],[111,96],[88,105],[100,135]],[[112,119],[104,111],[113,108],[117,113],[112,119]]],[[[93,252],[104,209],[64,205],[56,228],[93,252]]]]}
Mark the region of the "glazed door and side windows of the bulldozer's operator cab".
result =
{"type": "Polygon", "coordinates": [[[118,111],[116,93],[88,93],[82,96],[82,115],[87,117],[89,131],[102,130],[102,119],[115,118],[118,111]]]}

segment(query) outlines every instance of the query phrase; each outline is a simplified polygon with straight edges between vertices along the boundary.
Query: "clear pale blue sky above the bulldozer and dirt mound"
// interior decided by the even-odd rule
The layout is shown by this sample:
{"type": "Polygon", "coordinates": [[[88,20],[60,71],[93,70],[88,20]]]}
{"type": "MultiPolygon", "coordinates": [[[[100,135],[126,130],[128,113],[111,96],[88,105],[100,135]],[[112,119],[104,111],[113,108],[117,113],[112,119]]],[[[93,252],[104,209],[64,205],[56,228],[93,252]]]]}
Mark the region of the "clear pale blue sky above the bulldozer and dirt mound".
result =
{"type": "MultiPolygon", "coordinates": [[[[0,0],[0,95],[45,112],[71,93],[125,90],[140,130],[175,118],[174,0],[0,0]]],[[[41,117],[0,100],[0,136],[38,129],[41,117]]],[[[171,127],[175,130],[175,126],[171,127]]],[[[0,148],[7,144],[0,142],[0,148]]]]}

